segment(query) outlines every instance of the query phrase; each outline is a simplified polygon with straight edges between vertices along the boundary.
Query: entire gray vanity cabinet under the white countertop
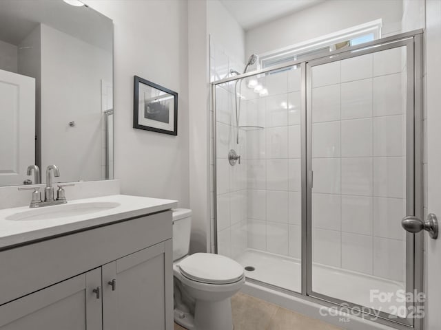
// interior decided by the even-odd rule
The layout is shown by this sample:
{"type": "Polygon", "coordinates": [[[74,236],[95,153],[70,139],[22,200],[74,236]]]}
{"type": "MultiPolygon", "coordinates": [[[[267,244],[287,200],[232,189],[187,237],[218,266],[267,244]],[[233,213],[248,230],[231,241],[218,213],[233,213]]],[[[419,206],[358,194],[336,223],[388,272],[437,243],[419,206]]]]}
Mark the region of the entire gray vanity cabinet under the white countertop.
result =
{"type": "Polygon", "coordinates": [[[0,252],[0,330],[172,330],[172,212],[0,252]]]}

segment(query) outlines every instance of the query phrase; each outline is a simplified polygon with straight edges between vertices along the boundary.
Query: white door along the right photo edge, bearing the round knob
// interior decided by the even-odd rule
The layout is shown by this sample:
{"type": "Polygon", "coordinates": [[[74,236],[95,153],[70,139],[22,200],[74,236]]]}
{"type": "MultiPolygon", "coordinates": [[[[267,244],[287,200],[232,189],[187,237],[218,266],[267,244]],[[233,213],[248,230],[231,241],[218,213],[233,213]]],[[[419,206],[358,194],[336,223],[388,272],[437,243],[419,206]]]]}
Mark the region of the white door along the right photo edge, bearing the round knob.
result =
{"type": "MultiPolygon", "coordinates": [[[[426,83],[426,113],[427,124],[427,199],[425,213],[435,213],[438,221],[441,217],[441,1],[426,1],[426,61],[424,78],[426,83]]],[[[426,316],[425,325],[427,330],[440,329],[441,324],[441,239],[434,241],[424,233],[426,240],[426,316]]]]}

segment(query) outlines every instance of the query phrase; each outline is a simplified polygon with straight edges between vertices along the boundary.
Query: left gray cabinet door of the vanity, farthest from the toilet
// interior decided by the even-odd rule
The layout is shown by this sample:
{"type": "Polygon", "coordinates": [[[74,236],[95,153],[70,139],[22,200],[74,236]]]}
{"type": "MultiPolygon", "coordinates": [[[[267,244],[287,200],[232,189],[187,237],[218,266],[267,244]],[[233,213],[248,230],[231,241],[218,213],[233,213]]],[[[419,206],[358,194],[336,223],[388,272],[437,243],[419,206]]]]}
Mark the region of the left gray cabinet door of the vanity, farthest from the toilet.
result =
{"type": "Polygon", "coordinates": [[[101,268],[0,306],[0,330],[99,330],[101,268]]]}

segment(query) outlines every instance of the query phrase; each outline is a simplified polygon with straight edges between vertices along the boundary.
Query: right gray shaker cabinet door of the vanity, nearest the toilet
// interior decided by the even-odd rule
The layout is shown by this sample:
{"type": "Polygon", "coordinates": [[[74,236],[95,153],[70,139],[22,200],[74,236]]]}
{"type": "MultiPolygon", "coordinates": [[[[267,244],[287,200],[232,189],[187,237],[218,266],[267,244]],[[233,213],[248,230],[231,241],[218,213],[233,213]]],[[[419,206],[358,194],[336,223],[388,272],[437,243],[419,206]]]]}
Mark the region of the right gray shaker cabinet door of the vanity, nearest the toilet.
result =
{"type": "Polygon", "coordinates": [[[103,265],[103,329],[172,330],[172,267],[171,239],[103,265]]]}

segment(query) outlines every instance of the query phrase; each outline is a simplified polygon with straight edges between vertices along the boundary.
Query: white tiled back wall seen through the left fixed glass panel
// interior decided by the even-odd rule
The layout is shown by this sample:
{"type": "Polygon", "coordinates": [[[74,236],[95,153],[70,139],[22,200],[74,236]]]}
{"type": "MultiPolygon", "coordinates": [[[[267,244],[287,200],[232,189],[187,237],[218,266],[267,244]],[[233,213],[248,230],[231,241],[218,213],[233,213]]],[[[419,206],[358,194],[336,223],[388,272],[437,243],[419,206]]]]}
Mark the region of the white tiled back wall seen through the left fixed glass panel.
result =
{"type": "Polygon", "coordinates": [[[248,248],[300,259],[300,68],[249,80],[240,124],[262,128],[247,130],[248,248]]]}

